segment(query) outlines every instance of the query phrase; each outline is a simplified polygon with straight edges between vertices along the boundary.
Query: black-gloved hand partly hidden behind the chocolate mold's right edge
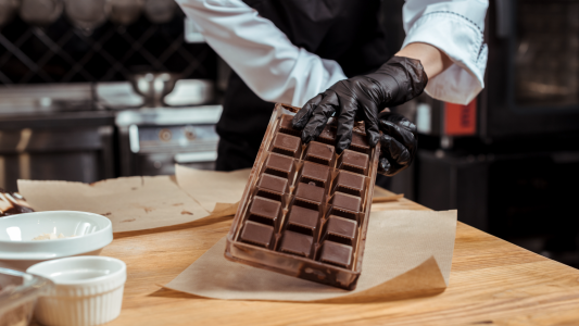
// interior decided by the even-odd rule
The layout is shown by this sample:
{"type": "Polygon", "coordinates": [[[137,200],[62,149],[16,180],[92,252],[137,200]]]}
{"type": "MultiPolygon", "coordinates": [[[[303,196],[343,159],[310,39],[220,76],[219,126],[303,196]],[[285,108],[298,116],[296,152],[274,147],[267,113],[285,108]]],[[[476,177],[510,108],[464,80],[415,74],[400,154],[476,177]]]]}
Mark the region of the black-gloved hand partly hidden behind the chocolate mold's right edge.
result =
{"type": "Polygon", "coordinates": [[[408,167],[416,153],[416,126],[401,114],[381,112],[378,114],[380,126],[380,159],[378,173],[392,176],[408,167]]]}

